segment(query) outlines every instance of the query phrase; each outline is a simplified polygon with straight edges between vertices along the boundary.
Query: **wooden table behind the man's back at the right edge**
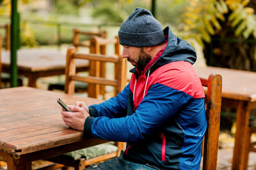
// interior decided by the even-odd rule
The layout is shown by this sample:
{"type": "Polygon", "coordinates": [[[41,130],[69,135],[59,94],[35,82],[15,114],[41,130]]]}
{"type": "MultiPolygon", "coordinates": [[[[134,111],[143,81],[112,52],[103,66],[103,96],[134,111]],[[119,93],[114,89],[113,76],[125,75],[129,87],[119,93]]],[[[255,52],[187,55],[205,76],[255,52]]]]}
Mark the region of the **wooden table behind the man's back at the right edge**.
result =
{"type": "Polygon", "coordinates": [[[232,169],[247,169],[248,131],[250,110],[256,108],[256,73],[221,67],[195,67],[199,76],[207,78],[211,73],[222,76],[221,106],[237,110],[236,135],[232,169]]]}

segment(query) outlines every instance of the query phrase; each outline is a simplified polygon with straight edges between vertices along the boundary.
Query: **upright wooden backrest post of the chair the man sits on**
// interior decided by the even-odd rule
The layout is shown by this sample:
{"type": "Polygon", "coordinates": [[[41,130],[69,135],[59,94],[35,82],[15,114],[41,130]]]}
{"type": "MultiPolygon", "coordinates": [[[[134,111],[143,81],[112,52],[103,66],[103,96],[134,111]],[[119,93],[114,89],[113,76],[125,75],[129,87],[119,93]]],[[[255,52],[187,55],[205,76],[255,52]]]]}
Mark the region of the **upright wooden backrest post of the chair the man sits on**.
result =
{"type": "Polygon", "coordinates": [[[207,130],[202,143],[203,169],[217,169],[218,139],[220,133],[221,89],[220,74],[211,74],[208,79],[200,78],[205,90],[207,130]],[[207,93],[206,93],[207,92],[207,93]]]}

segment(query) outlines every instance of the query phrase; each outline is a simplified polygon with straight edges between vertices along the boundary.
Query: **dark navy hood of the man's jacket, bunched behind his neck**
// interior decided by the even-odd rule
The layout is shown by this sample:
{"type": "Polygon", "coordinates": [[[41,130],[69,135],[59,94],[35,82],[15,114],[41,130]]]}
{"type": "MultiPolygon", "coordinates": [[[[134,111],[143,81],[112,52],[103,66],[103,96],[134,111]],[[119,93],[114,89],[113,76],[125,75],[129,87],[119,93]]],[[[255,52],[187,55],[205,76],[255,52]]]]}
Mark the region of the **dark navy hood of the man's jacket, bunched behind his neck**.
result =
{"type": "MultiPolygon", "coordinates": [[[[187,61],[194,64],[196,61],[196,52],[193,46],[187,41],[175,36],[169,27],[164,30],[164,36],[168,37],[168,44],[159,59],[150,67],[150,74],[153,73],[157,68],[175,61],[187,61]]],[[[130,70],[131,73],[136,73],[136,69],[130,70]]],[[[146,71],[147,73],[147,71],[146,71]]]]}

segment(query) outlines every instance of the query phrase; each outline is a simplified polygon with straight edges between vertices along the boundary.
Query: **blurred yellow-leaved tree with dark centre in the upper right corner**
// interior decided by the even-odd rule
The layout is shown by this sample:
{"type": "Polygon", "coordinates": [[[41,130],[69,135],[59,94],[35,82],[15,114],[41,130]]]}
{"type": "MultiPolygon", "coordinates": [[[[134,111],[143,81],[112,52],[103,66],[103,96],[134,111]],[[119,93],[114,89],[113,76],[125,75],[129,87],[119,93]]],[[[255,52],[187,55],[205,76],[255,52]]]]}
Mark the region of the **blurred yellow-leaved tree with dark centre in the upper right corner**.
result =
{"type": "Polygon", "coordinates": [[[256,41],[246,41],[256,37],[255,3],[250,3],[251,7],[249,3],[250,0],[189,1],[182,29],[205,46],[208,65],[256,71],[256,41]]]}

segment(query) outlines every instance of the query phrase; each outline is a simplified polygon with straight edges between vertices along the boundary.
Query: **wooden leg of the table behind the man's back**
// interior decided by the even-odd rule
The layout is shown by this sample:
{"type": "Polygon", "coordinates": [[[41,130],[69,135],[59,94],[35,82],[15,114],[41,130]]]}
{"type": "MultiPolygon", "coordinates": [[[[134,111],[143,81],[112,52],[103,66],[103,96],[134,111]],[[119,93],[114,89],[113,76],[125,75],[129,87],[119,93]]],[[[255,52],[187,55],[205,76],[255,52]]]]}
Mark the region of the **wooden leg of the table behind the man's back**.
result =
{"type": "MultiPolygon", "coordinates": [[[[250,104],[250,103],[249,103],[250,104]]],[[[246,149],[248,149],[247,131],[250,117],[250,106],[246,101],[239,101],[237,106],[236,135],[233,152],[232,170],[244,170],[246,166],[246,149]]]]}

